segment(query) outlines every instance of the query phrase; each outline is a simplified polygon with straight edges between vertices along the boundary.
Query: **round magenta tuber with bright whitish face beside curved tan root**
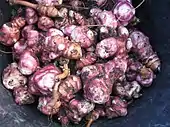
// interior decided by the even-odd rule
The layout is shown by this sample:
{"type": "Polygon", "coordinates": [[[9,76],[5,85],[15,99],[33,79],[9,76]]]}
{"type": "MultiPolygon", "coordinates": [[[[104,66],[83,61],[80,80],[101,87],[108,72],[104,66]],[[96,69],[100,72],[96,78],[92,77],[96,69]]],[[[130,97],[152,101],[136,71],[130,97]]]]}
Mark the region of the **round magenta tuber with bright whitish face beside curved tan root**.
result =
{"type": "Polygon", "coordinates": [[[56,75],[60,74],[61,70],[54,65],[46,65],[37,70],[32,77],[34,87],[37,88],[43,95],[52,95],[53,87],[56,81],[56,75]]]}

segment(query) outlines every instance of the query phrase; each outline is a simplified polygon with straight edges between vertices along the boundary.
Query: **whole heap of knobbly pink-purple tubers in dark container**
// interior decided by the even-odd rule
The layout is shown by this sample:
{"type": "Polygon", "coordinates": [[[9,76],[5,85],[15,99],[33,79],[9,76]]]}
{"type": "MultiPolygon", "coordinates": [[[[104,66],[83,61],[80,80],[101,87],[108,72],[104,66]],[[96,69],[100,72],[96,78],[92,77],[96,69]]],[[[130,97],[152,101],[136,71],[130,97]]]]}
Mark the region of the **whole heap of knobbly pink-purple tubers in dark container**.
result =
{"type": "Polygon", "coordinates": [[[160,71],[149,38],[135,28],[131,0],[8,2],[24,15],[0,29],[14,57],[3,85],[18,105],[38,101],[37,109],[63,126],[127,115],[160,71]]]}

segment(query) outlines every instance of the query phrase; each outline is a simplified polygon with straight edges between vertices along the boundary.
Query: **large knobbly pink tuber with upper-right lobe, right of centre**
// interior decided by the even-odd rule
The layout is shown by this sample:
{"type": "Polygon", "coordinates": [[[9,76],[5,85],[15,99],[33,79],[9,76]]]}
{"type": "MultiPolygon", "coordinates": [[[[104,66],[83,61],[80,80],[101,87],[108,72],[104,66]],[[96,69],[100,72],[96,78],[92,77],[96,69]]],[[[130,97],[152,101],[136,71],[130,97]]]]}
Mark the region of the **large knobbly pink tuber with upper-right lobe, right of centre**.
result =
{"type": "Polygon", "coordinates": [[[84,97],[97,104],[106,103],[116,81],[123,81],[127,61],[115,58],[105,64],[95,64],[82,68],[84,97]]]}

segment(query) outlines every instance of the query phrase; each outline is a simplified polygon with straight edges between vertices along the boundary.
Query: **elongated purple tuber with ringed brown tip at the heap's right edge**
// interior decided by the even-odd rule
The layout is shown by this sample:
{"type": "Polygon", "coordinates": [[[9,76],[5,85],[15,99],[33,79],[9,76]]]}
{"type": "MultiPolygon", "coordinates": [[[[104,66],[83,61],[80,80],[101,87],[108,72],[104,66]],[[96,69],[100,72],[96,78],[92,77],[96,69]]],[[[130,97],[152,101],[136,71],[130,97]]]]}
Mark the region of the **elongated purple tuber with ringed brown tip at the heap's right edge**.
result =
{"type": "Polygon", "coordinates": [[[132,52],[136,53],[146,67],[154,72],[160,71],[160,59],[153,51],[149,38],[140,31],[131,32],[129,38],[133,44],[132,52]]]}

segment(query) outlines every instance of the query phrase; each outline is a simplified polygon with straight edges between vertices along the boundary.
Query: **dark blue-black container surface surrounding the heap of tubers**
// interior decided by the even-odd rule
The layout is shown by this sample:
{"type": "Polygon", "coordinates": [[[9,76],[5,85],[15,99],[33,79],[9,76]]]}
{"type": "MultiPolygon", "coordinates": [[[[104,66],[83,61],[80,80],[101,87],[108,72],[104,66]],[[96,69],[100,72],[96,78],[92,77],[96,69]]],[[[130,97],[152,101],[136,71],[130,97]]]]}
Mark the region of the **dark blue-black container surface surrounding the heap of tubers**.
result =
{"type": "MultiPolygon", "coordinates": [[[[0,9],[3,13],[1,25],[2,20],[8,21],[11,10],[5,0],[0,0],[0,9]]],[[[153,86],[129,107],[126,117],[102,119],[92,127],[170,127],[170,0],[146,0],[137,9],[137,15],[141,20],[139,28],[150,37],[161,58],[161,73],[153,86]]],[[[0,54],[0,72],[10,61],[11,56],[0,54]]],[[[35,106],[17,106],[11,93],[0,84],[0,127],[48,126],[59,127],[40,114],[35,106]]]]}

